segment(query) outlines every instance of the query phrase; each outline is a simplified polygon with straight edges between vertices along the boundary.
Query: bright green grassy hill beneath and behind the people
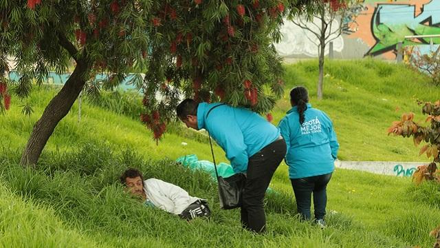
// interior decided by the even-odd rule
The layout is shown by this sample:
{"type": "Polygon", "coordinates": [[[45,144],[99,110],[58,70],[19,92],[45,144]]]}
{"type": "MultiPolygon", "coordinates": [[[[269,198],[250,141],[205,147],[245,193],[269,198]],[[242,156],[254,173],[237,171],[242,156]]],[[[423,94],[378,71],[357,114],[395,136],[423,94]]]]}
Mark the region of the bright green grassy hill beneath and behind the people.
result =
{"type": "MultiPolygon", "coordinates": [[[[440,89],[403,65],[373,60],[328,61],[324,100],[317,101],[316,61],[286,66],[285,99],[272,112],[274,123],[289,110],[289,88],[305,85],[314,107],[331,116],[340,159],[423,161],[410,139],[387,136],[401,113],[415,112],[415,99],[434,101],[440,89]]],[[[329,228],[300,223],[286,165],[267,196],[269,233],[243,231],[239,211],[219,209],[215,184],[206,174],[173,163],[184,154],[210,160],[203,134],[171,125],[155,145],[137,121],[140,99],[107,96],[101,106],[83,102],[61,121],[33,169],[18,165],[32,125],[56,90],[41,89],[25,117],[21,103],[0,118],[0,244],[12,247],[430,247],[431,229],[440,224],[440,188],[413,187],[410,179],[338,169],[329,185],[329,228]],[[187,146],[181,142],[188,143],[187,146]],[[175,183],[207,198],[210,220],[186,223],[148,209],[115,183],[122,170],[139,167],[146,177],[175,183]]],[[[220,161],[223,152],[215,147],[220,161]]]]}

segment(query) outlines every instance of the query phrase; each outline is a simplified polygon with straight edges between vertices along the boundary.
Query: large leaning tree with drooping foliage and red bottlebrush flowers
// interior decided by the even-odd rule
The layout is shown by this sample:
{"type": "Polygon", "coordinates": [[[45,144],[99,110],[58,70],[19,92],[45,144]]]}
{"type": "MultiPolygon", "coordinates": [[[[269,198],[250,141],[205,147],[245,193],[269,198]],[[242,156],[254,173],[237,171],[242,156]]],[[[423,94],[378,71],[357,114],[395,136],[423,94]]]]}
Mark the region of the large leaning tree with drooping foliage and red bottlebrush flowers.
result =
{"type": "Polygon", "coordinates": [[[141,119],[157,139],[181,92],[270,110],[283,94],[281,58],[272,45],[280,39],[283,17],[307,12],[318,1],[0,0],[0,58],[15,58],[22,75],[14,85],[17,96],[28,97],[32,82],[41,84],[49,70],[75,65],[35,123],[21,165],[37,163],[96,72],[110,76],[101,85],[91,81],[93,87],[85,89],[91,93],[116,87],[133,68],[146,68],[145,78],[138,74],[133,83],[144,90],[141,119]]]}

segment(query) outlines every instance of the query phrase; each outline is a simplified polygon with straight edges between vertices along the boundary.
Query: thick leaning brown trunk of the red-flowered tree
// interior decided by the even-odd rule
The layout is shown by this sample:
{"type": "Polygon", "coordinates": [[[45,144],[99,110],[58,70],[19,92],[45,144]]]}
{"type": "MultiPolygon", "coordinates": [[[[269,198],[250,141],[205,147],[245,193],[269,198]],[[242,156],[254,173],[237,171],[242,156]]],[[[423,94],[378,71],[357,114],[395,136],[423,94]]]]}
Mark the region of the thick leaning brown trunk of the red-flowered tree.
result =
{"type": "Polygon", "coordinates": [[[69,76],[63,88],[50,101],[39,121],[35,123],[28,144],[21,155],[21,165],[27,166],[37,163],[56,125],[67,115],[78,94],[83,90],[85,85],[84,75],[88,72],[89,63],[87,63],[87,59],[78,61],[74,72],[69,76]]]}

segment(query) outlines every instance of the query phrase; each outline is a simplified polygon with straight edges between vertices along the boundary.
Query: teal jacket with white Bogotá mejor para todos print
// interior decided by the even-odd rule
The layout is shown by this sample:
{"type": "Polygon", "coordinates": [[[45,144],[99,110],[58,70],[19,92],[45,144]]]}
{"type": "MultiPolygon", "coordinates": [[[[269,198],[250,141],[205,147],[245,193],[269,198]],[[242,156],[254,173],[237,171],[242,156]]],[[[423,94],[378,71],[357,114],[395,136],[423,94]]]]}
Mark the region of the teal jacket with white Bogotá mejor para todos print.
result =
{"type": "Polygon", "coordinates": [[[327,114],[307,103],[300,125],[297,107],[292,107],[278,127],[287,144],[285,161],[290,178],[305,178],[333,172],[339,144],[327,114]]]}

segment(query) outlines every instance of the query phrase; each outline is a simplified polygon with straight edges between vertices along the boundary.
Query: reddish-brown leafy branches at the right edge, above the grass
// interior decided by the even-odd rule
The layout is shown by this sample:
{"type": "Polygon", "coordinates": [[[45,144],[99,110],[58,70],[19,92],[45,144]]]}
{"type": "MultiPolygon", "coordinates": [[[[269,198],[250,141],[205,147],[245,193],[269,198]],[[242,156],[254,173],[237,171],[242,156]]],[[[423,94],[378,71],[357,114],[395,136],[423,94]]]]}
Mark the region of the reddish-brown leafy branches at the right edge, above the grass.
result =
{"type": "Polygon", "coordinates": [[[419,145],[422,141],[426,143],[420,149],[420,155],[425,153],[428,158],[432,158],[432,163],[417,167],[417,171],[412,174],[415,183],[419,184],[422,180],[435,180],[440,183],[440,101],[435,103],[421,103],[422,113],[428,114],[426,122],[430,125],[423,127],[414,122],[414,114],[402,114],[400,121],[394,121],[388,128],[388,134],[395,134],[403,137],[413,137],[414,145],[419,145]]]}

